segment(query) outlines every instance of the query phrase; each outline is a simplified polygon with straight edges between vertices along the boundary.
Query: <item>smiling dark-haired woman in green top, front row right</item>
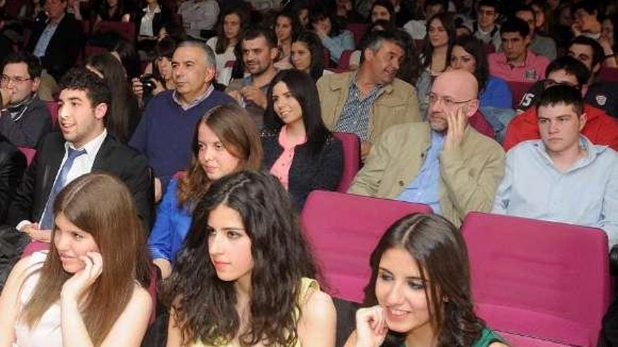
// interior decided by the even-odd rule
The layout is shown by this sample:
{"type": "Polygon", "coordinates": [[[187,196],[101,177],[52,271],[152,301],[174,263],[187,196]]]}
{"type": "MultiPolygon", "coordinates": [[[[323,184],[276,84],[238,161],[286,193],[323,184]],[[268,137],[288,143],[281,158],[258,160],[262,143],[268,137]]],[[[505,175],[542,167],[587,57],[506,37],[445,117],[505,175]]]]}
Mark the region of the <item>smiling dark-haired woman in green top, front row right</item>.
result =
{"type": "Polygon", "coordinates": [[[346,347],[506,347],[474,313],[461,233],[439,215],[390,226],[346,347]]]}

